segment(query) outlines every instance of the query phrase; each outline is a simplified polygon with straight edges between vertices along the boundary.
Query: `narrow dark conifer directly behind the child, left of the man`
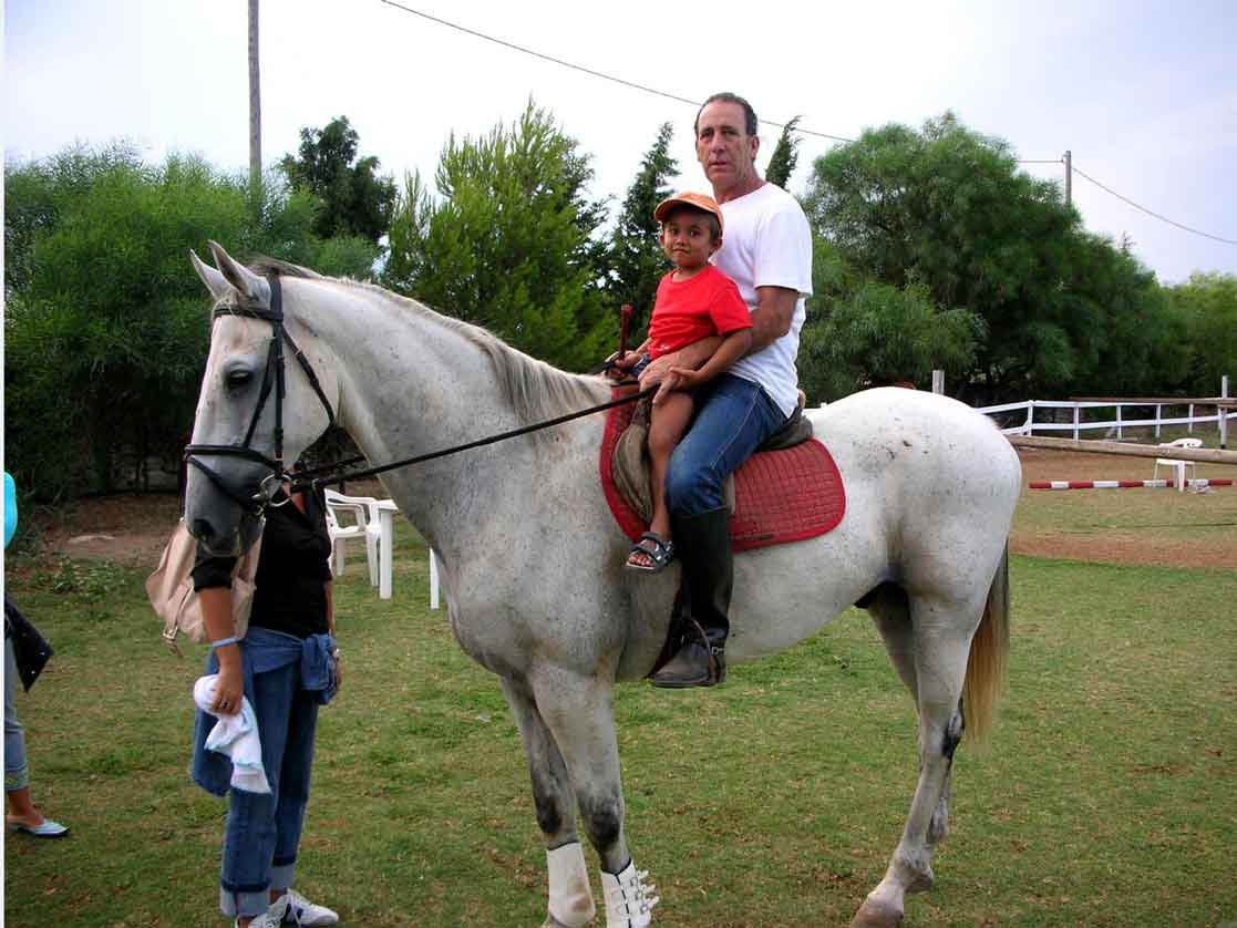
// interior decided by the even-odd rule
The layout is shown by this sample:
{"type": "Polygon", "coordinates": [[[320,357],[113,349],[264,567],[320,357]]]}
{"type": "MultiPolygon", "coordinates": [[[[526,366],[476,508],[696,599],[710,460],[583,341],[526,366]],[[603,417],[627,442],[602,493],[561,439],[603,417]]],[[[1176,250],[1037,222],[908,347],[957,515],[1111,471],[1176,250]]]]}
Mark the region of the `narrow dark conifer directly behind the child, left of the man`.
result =
{"type": "Polygon", "coordinates": [[[607,286],[616,303],[631,303],[635,308],[633,338],[652,313],[657,283],[667,270],[653,210],[670,195],[668,183],[679,173],[678,162],[669,155],[673,135],[669,122],[658,127],[657,140],[646,152],[640,173],[623,197],[611,239],[607,286]]]}

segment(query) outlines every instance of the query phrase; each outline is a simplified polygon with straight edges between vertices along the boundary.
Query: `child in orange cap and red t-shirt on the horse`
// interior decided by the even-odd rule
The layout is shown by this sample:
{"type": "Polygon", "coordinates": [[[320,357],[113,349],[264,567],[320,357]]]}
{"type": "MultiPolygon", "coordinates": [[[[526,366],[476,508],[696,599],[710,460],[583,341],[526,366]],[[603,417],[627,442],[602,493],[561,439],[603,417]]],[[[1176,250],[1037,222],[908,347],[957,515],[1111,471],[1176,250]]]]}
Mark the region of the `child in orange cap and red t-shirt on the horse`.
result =
{"type": "Polygon", "coordinates": [[[653,518],[648,531],[632,546],[627,567],[661,573],[674,557],[670,513],[666,505],[666,471],[670,454],[691,422],[691,391],[704,386],[746,354],[751,346],[751,313],[735,282],[709,264],[721,247],[722,219],[717,203],[703,193],[679,193],[653,210],[662,224],[662,250],[674,270],[657,287],[648,338],[620,370],[633,376],[657,358],[710,335],[721,344],[699,370],[673,369],[677,389],[654,401],[648,429],[648,455],[653,491],[653,518]]]}

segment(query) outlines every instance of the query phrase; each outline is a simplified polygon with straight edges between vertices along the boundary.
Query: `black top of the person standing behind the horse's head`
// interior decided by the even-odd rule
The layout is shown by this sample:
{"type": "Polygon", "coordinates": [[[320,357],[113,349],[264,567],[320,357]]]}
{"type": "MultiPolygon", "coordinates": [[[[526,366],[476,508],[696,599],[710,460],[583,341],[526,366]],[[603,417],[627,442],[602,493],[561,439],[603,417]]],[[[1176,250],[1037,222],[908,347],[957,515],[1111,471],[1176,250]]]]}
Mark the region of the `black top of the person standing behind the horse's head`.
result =
{"type": "MultiPolygon", "coordinates": [[[[281,495],[276,499],[286,499],[281,495]]],[[[306,494],[306,511],[296,504],[268,506],[262,548],[254,578],[254,609],[249,624],[306,638],[327,627],[327,590],[330,579],[330,536],[325,501],[306,494]]],[[[198,547],[193,589],[231,586],[234,557],[215,557],[198,547]]]]}

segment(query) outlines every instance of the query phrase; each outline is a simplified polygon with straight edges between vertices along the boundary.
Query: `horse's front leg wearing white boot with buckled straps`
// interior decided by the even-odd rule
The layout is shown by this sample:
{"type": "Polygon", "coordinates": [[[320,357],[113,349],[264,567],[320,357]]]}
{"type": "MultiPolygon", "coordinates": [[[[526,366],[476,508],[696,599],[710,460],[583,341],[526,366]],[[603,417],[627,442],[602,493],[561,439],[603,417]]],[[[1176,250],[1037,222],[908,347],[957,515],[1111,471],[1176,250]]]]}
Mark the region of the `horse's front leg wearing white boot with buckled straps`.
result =
{"type": "Polygon", "coordinates": [[[623,835],[612,682],[562,668],[531,674],[537,709],[562,752],[589,840],[601,859],[606,928],[646,928],[658,903],[623,835]]]}

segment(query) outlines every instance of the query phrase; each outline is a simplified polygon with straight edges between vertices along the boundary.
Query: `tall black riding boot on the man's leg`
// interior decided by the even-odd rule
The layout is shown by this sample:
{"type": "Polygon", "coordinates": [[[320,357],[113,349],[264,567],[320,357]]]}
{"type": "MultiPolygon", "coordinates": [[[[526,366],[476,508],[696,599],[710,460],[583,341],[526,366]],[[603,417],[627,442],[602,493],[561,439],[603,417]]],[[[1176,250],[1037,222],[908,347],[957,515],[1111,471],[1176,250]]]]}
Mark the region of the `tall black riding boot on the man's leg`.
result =
{"type": "Polygon", "coordinates": [[[683,563],[690,616],[704,631],[693,635],[657,673],[654,687],[713,687],[726,679],[726,636],[735,562],[730,551],[730,510],[672,517],[674,549],[683,563]]]}

